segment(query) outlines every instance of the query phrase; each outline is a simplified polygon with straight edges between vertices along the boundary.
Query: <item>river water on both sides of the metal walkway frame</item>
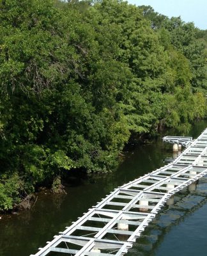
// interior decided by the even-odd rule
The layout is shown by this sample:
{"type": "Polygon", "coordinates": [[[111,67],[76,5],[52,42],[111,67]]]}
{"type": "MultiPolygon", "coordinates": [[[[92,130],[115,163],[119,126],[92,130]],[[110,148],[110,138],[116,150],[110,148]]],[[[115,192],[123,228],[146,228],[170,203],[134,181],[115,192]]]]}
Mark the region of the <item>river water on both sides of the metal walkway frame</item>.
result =
{"type": "MultiPolygon", "coordinates": [[[[197,138],[207,127],[199,122],[187,134],[197,138]]],[[[169,132],[170,133],[170,132],[169,132]]],[[[171,131],[171,135],[173,134],[171,131]]],[[[2,216],[0,220],[0,256],[28,256],[38,252],[59,231],[82,216],[118,186],[165,165],[172,157],[172,145],[161,138],[125,153],[126,157],[112,173],[89,179],[73,175],[67,195],[38,194],[30,211],[2,216]]],[[[165,206],[137,239],[127,256],[206,256],[207,255],[207,177],[199,180],[195,191],[187,189],[174,196],[174,205],[165,206]]]]}

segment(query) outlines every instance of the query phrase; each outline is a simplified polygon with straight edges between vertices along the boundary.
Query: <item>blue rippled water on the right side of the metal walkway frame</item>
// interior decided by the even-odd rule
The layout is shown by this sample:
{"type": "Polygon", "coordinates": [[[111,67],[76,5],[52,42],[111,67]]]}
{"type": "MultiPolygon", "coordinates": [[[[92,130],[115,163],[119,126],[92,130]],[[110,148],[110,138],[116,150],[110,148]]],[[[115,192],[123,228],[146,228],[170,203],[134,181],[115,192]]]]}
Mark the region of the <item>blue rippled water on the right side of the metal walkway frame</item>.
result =
{"type": "MultiPolygon", "coordinates": [[[[196,185],[196,184],[195,184],[196,185]]],[[[165,206],[127,256],[206,255],[207,178],[194,191],[183,189],[165,206]]]]}

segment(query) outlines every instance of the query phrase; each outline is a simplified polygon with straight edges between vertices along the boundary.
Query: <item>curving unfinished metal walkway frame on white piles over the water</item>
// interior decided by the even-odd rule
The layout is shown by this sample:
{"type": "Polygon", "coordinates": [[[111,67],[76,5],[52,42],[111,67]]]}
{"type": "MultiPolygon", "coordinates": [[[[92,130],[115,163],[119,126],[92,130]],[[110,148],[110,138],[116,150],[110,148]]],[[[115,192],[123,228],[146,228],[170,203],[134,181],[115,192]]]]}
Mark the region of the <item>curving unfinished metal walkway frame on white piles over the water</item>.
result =
{"type": "MultiPolygon", "coordinates": [[[[207,174],[207,129],[170,164],[114,189],[35,256],[124,255],[173,195],[207,174]]],[[[167,141],[167,137],[165,137],[167,141]]],[[[31,255],[34,256],[34,255],[31,255]]]]}

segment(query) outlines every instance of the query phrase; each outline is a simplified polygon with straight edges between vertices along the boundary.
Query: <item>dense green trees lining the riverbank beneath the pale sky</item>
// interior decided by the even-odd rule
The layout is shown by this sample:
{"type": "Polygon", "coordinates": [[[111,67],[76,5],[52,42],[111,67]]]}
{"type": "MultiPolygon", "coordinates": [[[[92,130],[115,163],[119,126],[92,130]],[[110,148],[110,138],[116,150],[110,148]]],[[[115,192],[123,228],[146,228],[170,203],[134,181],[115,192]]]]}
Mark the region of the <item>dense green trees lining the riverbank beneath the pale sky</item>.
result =
{"type": "Polygon", "coordinates": [[[130,136],[206,116],[207,32],[119,0],[0,3],[0,211],[130,136]]]}

